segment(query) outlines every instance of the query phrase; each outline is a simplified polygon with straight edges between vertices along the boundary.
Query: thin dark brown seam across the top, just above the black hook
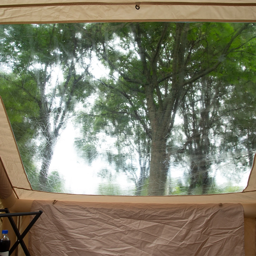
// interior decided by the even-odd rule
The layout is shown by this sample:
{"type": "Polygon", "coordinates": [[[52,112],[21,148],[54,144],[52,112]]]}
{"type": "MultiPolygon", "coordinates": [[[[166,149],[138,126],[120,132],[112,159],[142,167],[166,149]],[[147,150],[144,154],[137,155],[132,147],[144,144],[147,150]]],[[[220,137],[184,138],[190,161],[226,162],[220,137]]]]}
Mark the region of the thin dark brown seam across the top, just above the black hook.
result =
{"type": "Polygon", "coordinates": [[[44,6],[71,6],[71,5],[202,5],[202,6],[256,6],[256,3],[212,3],[212,2],[69,2],[69,3],[43,3],[43,4],[4,4],[0,8],[15,7],[44,7],[44,6]]]}

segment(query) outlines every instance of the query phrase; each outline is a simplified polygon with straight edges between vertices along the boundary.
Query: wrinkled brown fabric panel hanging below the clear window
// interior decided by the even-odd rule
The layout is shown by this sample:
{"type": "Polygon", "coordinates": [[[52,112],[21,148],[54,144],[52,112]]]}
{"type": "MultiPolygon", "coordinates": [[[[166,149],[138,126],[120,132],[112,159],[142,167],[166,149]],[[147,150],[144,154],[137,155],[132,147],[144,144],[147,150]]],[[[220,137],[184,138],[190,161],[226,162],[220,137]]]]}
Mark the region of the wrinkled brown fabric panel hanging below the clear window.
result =
{"type": "Polygon", "coordinates": [[[32,255],[244,255],[240,204],[34,201],[32,255]]]}

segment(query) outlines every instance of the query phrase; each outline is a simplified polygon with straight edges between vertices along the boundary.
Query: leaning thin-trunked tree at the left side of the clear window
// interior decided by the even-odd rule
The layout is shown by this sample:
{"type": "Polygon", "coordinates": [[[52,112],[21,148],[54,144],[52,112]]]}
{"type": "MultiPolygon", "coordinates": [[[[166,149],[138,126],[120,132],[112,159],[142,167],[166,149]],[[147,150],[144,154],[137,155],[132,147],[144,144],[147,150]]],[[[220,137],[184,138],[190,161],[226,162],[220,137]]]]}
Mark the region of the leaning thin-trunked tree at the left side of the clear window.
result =
{"type": "MultiPolygon", "coordinates": [[[[16,125],[28,123],[34,131],[30,140],[33,137],[40,140],[41,167],[36,186],[36,189],[40,190],[51,189],[47,188],[47,175],[56,140],[65,124],[66,116],[74,107],[73,97],[80,96],[75,96],[75,92],[81,86],[83,91],[86,90],[85,75],[77,74],[75,68],[78,39],[73,32],[79,31],[78,27],[76,24],[29,24],[10,25],[4,28],[3,55],[6,56],[6,61],[12,60],[9,68],[15,74],[15,79],[10,79],[10,76],[4,77],[8,83],[7,94],[3,91],[4,87],[1,94],[4,101],[12,99],[10,93],[13,91],[17,95],[11,103],[12,107],[8,108],[7,105],[9,116],[12,116],[13,107],[22,108],[22,102],[26,102],[23,105],[25,108],[21,110],[20,116],[23,117],[16,125]],[[62,69],[62,83],[57,78],[53,84],[55,69],[62,69]],[[28,108],[29,104],[33,106],[28,108]]],[[[15,109],[15,113],[20,114],[17,110],[15,109]]],[[[25,131],[20,132],[20,137],[24,136],[25,131]]],[[[20,137],[17,135],[20,133],[14,131],[14,134],[19,141],[20,137]]]]}

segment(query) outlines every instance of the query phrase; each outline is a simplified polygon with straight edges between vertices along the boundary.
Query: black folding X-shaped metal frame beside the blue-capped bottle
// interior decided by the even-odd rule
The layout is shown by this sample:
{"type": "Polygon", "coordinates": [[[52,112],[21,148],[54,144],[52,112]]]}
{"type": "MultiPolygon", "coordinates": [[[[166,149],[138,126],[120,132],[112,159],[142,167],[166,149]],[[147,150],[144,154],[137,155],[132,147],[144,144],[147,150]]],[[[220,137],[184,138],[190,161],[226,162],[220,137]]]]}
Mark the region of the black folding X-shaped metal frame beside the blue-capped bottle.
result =
{"type": "Polygon", "coordinates": [[[28,248],[26,246],[26,244],[23,241],[23,238],[27,235],[28,231],[30,230],[30,228],[32,228],[32,226],[35,224],[36,220],[38,220],[38,218],[40,217],[40,215],[43,213],[42,211],[39,212],[15,212],[15,213],[10,213],[8,208],[5,209],[0,209],[0,212],[5,212],[5,213],[0,213],[0,217],[7,217],[12,225],[12,228],[17,236],[17,241],[12,245],[12,248],[9,251],[9,255],[12,254],[12,252],[14,252],[14,250],[16,249],[16,247],[20,244],[23,251],[25,252],[25,255],[29,255],[28,252],[28,248]],[[31,222],[28,224],[28,227],[23,231],[23,233],[20,235],[20,232],[17,228],[17,225],[15,224],[14,220],[12,219],[12,217],[16,217],[16,216],[27,216],[27,215],[36,215],[34,217],[33,220],[31,220],[31,222]]]}

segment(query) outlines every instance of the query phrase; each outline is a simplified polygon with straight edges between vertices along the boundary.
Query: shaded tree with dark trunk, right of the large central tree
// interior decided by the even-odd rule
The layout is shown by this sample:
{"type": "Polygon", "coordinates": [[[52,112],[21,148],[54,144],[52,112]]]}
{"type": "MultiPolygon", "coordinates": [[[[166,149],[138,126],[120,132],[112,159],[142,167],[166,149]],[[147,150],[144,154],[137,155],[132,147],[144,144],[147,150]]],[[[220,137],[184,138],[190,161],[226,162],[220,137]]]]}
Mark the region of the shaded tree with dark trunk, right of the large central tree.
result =
{"type": "Polygon", "coordinates": [[[200,184],[203,194],[207,193],[213,181],[208,172],[212,163],[220,162],[220,152],[222,155],[232,152],[234,162],[241,161],[244,167],[252,166],[255,106],[252,104],[254,90],[249,88],[255,83],[252,58],[255,39],[244,36],[241,43],[229,54],[224,65],[193,84],[183,102],[184,151],[188,150],[191,163],[189,194],[193,193],[197,184],[200,184]],[[247,132],[244,129],[248,129],[247,132]],[[245,140],[245,136],[250,139],[245,140]],[[222,142],[221,147],[218,141],[222,142]],[[249,163],[242,141],[248,143],[249,163]],[[233,148],[232,151],[230,148],[233,148]]]}

